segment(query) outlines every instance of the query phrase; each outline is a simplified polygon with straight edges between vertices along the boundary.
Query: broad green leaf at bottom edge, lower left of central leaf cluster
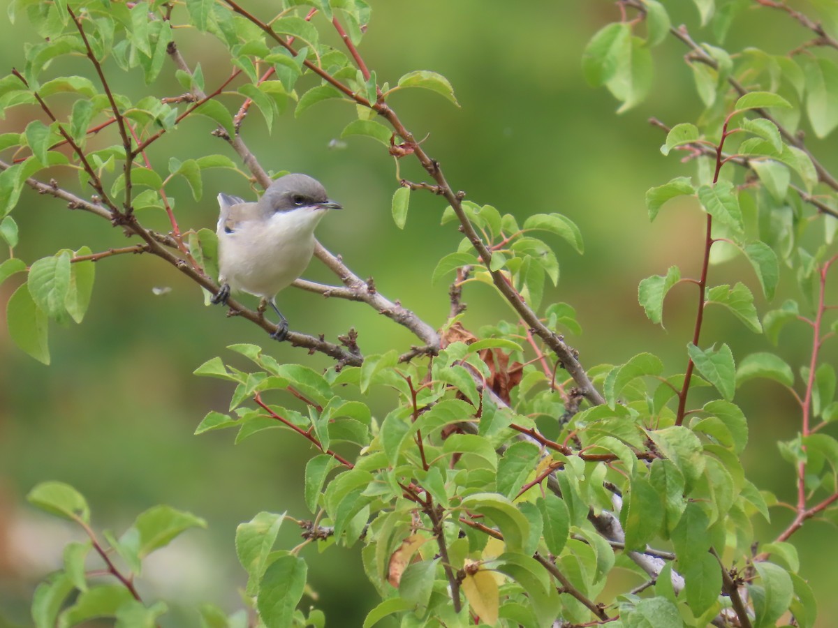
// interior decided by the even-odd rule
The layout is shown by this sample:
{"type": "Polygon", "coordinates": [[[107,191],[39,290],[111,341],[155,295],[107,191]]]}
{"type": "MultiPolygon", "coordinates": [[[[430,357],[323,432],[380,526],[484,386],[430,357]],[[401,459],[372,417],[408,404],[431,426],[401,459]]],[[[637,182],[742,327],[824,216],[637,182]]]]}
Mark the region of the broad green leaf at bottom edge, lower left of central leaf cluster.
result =
{"type": "Polygon", "coordinates": [[[281,556],[268,566],[256,597],[256,608],[266,626],[292,625],[294,609],[303,598],[307,572],[306,562],[293,554],[281,556]]]}

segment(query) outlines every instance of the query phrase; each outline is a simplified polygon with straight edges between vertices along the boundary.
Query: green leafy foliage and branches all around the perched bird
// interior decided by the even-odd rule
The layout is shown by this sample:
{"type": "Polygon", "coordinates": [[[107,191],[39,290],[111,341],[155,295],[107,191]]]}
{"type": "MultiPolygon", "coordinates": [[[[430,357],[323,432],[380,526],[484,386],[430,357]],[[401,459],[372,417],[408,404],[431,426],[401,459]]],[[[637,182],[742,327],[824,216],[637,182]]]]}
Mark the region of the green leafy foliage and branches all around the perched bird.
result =
{"type": "MultiPolygon", "coordinates": [[[[26,273],[8,301],[10,337],[49,363],[49,322],[82,322],[94,262],[114,255],[156,255],[207,295],[215,293],[215,234],[180,229],[167,185],[182,178],[197,201],[204,171],[226,168],[265,188],[268,173],[238,135],[247,111],[255,106],[271,129],[292,103],[299,116],[323,100],[342,100],[354,105],[357,116],[342,136],[369,136],[394,157],[396,224],[406,228],[411,194],[430,191],[448,203],[442,224],[457,225],[464,237],[428,269],[434,281],[454,276],[450,316],[440,332],[326,250],[318,257],[343,285],[299,284],[365,302],[410,330],[421,343],[416,347],[364,355],[354,330],[336,343],[292,332],[292,345],[325,353],[334,366],[320,373],[303,363],[278,363],[263,347],[235,344],[228,349],[253,366],[242,370],[219,357],[196,369],[232,391],[229,411],[207,414],[196,434],[235,429],[238,442],[280,429],[317,451],[303,486],[312,520],[260,512],[237,530],[245,599],[258,625],[323,625],[323,614],[308,600],[301,603],[308,584],[300,553],[310,544],[333,552],[363,547],[359,570],[381,598],[365,626],[393,618],[406,626],[766,626],[788,613],[795,625],[814,625],[815,600],[798,574],[789,538],[838,501],[838,442],[826,433],[838,418],[836,376],[822,352],[838,332],[827,288],[838,260],[838,181],[798,131],[803,112],[815,136],[838,126],[838,66],[832,60],[838,13],[817,3],[822,25],[784,3],[756,0],[761,10],[783,11],[815,39],[788,55],[755,48],[733,54],[722,44],[737,13],[751,3],[695,4],[702,23],[711,24],[712,44],[697,43],[685,27],[673,28],[667,3],[622,0],[620,21],[593,34],[582,54],[587,79],[604,85],[624,111],[649,95],[653,49],[670,38],[687,47],[704,109],[696,120],[655,124],[666,131],[661,152],[685,155],[685,162],[696,162],[696,173],[650,188],[646,200],[651,220],[681,197],[689,199],[681,210],[706,214],[701,274],[685,276],[671,266],[639,286],[639,304],[656,324],[663,321],[670,290],[696,286],[695,331],[684,342],[683,372],[647,351],[622,364],[582,366],[562,336],[581,331],[574,309],[543,302],[546,281],[559,280],[550,243],[582,254],[580,230],[562,214],[533,214],[520,222],[453,191],[389,104],[399,90],[422,88],[458,105],[453,87],[428,70],[409,72],[392,86],[380,81],[358,49],[370,21],[363,0],[287,0],[270,20],[233,0],[188,0],[185,6],[14,0],[10,16],[25,14],[44,41],[28,47],[22,70],[0,80],[4,111],[29,106],[40,112],[25,128],[0,136],[10,156],[0,161],[0,234],[10,250],[0,279],[26,273]],[[200,65],[190,67],[178,49],[175,33],[186,26],[218,39],[235,65],[212,91],[205,91],[200,65]],[[331,28],[346,53],[325,43],[331,28]],[[91,78],[54,75],[58,59],[79,54],[88,59],[91,78]],[[153,95],[167,59],[188,94],[153,95]],[[148,93],[114,92],[106,63],[141,69],[148,93]],[[234,82],[240,85],[232,92],[235,113],[226,104],[234,82]],[[213,133],[230,144],[247,172],[221,154],[152,163],[149,147],[194,116],[217,125],[213,133]],[[403,158],[417,159],[432,183],[401,178],[403,158]],[[84,198],[88,186],[95,191],[92,200],[84,198]],[[13,256],[18,229],[11,215],[26,187],[107,219],[141,241],[101,253],[59,250],[26,265],[13,256]],[[141,220],[147,208],[167,215],[170,233],[147,228],[141,220]],[[732,255],[742,255],[754,275],[713,285],[711,262],[732,255]],[[799,301],[760,316],[753,288],[770,301],[781,265],[796,271],[799,301]],[[515,320],[468,329],[461,299],[472,282],[494,286],[515,320]],[[775,353],[735,357],[725,338],[702,338],[705,315],[721,309],[706,308],[711,305],[722,306],[750,332],[764,332],[773,344],[785,324],[808,323],[810,359],[798,369],[799,383],[794,368],[775,353]],[[794,466],[795,517],[768,542],[757,538],[752,520],[768,519],[778,504],[745,476],[740,456],[751,420],[733,403],[753,378],[789,389],[800,409],[799,434],[779,443],[794,466]],[[701,387],[715,392],[701,406],[691,405],[692,391],[701,387]],[[370,410],[373,397],[395,400],[380,416],[370,410]],[[299,402],[305,414],[293,409],[299,402]],[[303,543],[277,549],[287,522],[303,528],[303,543]],[[632,574],[636,586],[606,589],[615,569],[632,574]]],[[[229,305],[274,330],[260,311],[229,305]]],[[[104,533],[106,545],[91,528],[85,498],[70,486],[41,484],[29,501],[80,525],[90,538],[70,544],[65,568],[39,587],[36,625],[76,625],[98,616],[115,617],[116,625],[156,624],[166,605],[142,600],[134,576],[148,553],[204,526],[203,520],[154,507],[122,537],[104,533]],[[85,570],[91,549],[111,579],[102,580],[101,569],[85,570]]],[[[210,605],[200,615],[204,625],[248,622],[245,613],[227,617],[210,605]]]]}

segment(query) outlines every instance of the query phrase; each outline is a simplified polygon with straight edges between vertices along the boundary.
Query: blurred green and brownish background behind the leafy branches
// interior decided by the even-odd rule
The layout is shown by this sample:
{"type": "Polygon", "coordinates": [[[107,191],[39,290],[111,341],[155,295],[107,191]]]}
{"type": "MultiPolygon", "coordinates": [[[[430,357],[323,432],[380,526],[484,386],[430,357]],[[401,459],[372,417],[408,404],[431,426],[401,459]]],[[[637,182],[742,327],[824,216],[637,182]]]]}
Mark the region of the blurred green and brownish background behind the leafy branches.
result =
{"type": "MultiPolygon", "coordinates": [[[[271,4],[252,2],[247,7],[269,18],[271,4]]],[[[667,4],[674,23],[697,24],[692,3],[667,4]]],[[[461,108],[425,90],[402,91],[391,101],[416,136],[429,134],[423,147],[441,162],[453,187],[464,190],[468,199],[515,214],[519,221],[557,211],[582,229],[582,257],[555,241],[561,280],[545,299],[566,301],[577,309],[584,332],[568,340],[581,352],[582,362],[588,367],[621,363],[649,351],[664,358],[668,373],[681,372],[695,291],[679,286],[670,293],[665,330],[648,322],[636,296],[644,277],[674,264],[684,275],[695,274],[701,260],[704,221],[695,207],[667,207],[649,225],[644,206],[649,187],[694,170],[676,156],[661,156],[664,136],[647,123],[649,116],[670,125],[691,121],[701,111],[681,44],[668,41],[655,49],[652,95],[618,116],[618,103],[606,90],[588,86],[580,72],[587,39],[618,19],[612,3],[547,0],[514,9],[487,0],[372,0],[371,5],[373,19],[361,52],[380,81],[393,85],[410,70],[433,69],[454,85],[461,108]]],[[[23,18],[13,28],[5,12],[0,19],[6,33],[0,58],[8,71],[23,65],[23,42],[34,41],[35,35],[23,18]]],[[[697,26],[692,33],[699,41],[712,39],[697,26]]],[[[737,18],[726,45],[732,51],[753,45],[781,54],[806,37],[779,12],[753,10],[737,18]]],[[[215,40],[189,30],[176,31],[176,38],[189,64],[203,66],[208,91],[229,75],[229,60],[215,40]]],[[[113,64],[106,71],[116,91],[142,94],[141,72],[126,75],[113,64]]],[[[71,73],[91,75],[91,70],[83,59],[62,59],[48,71],[50,76],[71,73]]],[[[182,91],[167,65],[153,93],[182,91]]],[[[235,111],[241,100],[224,101],[235,111]]],[[[0,121],[0,131],[21,130],[34,115],[25,108],[10,111],[0,121]]],[[[264,121],[253,112],[242,136],[265,167],[308,172],[322,181],[345,208],[320,225],[323,245],[342,255],[356,274],[373,276],[385,296],[439,326],[448,310],[447,285],[432,286],[431,271],[442,255],[456,248],[461,235],[451,224],[439,226],[444,203],[430,193],[411,195],[406,229],[396,229],[390,214],[396,189],[392,158],[360,137],[350,138],[344,149],[329,148],[353,115],[351,106],[337,101],[318,104],[299,119],[286,111],[268,136],[264,121]]],[[[189,118],[154,145],[153,163],[164,169],[168,157],[215,152],[235,159],[224,142],[209,136],[213,127],[206,119],[189,118]]],[[[835,172],[834,142],[811,146],[835,172]]],[[[183,229],[214,228],[218,191],[250,194],[244,179],[220,172],[204,178],[204,197],[198,203],[181,182],[168,190],[176,198],[183,229]]],[[[77,185],[65,172],[54,176],[62,184],[66,178],[70,188],[77,185]]],[[[427,179],[411,159],[402,160],[401,176],[427,179]]],[[[21,230],[16,255],[27,262],[60,248],[89,245],[96,251],[128,244],[106,221],[70,212],[63,203],[29,190],[13,215],[21,230]]],[[[163,214],[146,213],[141,219],[168,230],[163,214]]],[[[334,282],[316,260],[305,276],[334,282]]],[[[714,284],[742,278],[756,294],[758,285],[747,263],[734,260],[711,270],[714,284]]],[[[17,285],[13,280],[0,287],[0,301],[7,301],[17,285]]],[[[774,306],[789,296],[797,295],[786,270],[774,306]]],[[[761,296],[757,299],[764,311],[761,296]]],[[[358,303],[326,301],[291,289],[278,301],[293,329],[323,332],[334,340],[355,327],[367,354],[391,347],[406,350],[413,342],[401,327],[358,303]]],[[[514,320],[488,286],[469,285],[464,301],[468,327],[514,320]]],[[[189,606],[199,601],[230,611],[241,608],[237,589],[246,579],[235,559],[235,526],[261,510],[308,517],[302,481],[310,452],[302,440],[280,430],[261,432],[235,446],[230,432],[193,436],[206,412],[225,411],[232,388],[191,373],[216,355],[238,363],[240,358],[224,348],[234,342],[256,342],[282,361],[302,361],[313,368],[325,368],[329,361],[272,342],[255,326],[204,307],[196,286],[150,256],[122,255],[98,263],[85,322],[69,330],[50,329],[49,367],[21,353],[4,322],[0,330],[0,625],[29,624],[28,600],[35,584],[59,566],[66,540],[78,537],[74,529],[26,504],[29,489],[46,480],[68,482],[84,493],[94,527],[100,530],[122,533],[137,513],[161,502],[208,520],[209,529],[189,532],[154,554],[139,581],[148,600],[163,599],[174,607],[163,625],[196,625],[189,606]],[[155,296],[156,287],[172,290],[155,296]]],[[[771,350],[764,337],[747,332],[721,310],[710,312],[702,340],[728,342],[738,358],[771,350]]],[[[810,337],[803,326],[785,331],[781,340],[777,353],[795,368],[808,360],[810,337]]],[[[825,358],[835,361],[835,355],[835,342],[827,344],[825,358]]],[[[780,499],[793,500],[793,469],[779,458],[774,444],[799,430],[793,399],[778,386],[752,382],[745,384],[737,402],[751,421],[744,456],[748,476],[780,499]]],[[[385,409],[391,399],[370,403],[385,409]]],[[[788,512],[774,509],[770,525],[756,522],[759,538],[768,542],[789,519],[788,512]]],[[[282,547],[297,542],[297,528],[287,523],[282,547]]],[[[838,612],[838,599],[831,594],[838,586],[835,531],[825,522],[807,522],[794,542],[801,574],[819,600],[819,625],[832,625],[829,617],[838,612]]],[[[360,625],[374,602],[357,548],[332,548],[323,556],[308,548],[305,557],[328,625],[360,625]]]]}

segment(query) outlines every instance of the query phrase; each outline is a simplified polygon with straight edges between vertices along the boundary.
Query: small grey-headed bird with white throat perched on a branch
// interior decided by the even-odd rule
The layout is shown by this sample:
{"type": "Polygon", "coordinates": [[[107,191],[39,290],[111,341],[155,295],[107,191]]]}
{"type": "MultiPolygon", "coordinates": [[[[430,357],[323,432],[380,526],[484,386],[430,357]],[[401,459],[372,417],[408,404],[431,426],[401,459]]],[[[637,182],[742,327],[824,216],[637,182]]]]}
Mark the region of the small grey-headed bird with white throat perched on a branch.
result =
{"type": "Polygon", "coordinates": [[[256,203],[220,193],[218,204],[221,288],[211,301],[226,303],[230,291],[261,296],[280,319],[271,337],[285,340],[288,322],[274,297],[306,270],[314,253],[314,228],[329,209],[341,206],[306,174],[277,178],[256,203]]]}

